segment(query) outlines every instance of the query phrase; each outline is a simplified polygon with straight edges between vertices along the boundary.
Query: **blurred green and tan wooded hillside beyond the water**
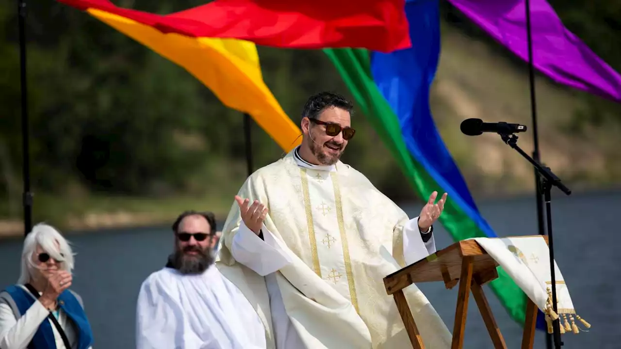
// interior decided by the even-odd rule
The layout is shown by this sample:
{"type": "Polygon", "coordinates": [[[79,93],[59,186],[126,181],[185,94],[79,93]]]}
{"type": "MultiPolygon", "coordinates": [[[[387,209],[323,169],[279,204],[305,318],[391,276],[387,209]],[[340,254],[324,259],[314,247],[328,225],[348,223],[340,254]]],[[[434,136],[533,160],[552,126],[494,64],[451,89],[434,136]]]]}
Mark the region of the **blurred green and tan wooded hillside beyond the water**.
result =
{"type": "MultiPolygon", "coordinates": [[[[165,14],[206,1],[114,1],[165,14]]],[[[533,190],[528,163],[494,135],[466,137],[461,120],[532,125],[528,70],[448,2],[433,86],[438,128],[476,197],[533,190]]],[[[621,71],[621,1],[551,1],[564,24],[621,71]]],[[[13,2],[0,2],[0,223],[22,215],[19,42],[13,2]]],[[[81,229],[170,222],[188,208],[226,214],[246,177],[242,114],[179,66],[56,2],[29,1],[29,114],[35,221],[81,229]]],[[[349,96],[320,50],[259,47],[266,83],[293,120],[306,97],[349,96]]],[[[209,62],[206,62],[208,64],[209,62]]],[[[576,189],[621,183],[621,107],[537,77],[543,161],[576,189]]],[[[343,161],[396,201],[417,200],[365,118],[343,161]]],[[[532,151],[530,132],[520,147],[532,151]]],[[[253,127],[255,169],[283,155],[253,127]]],[[[224,219],[224,216],[221,216],[224,219]]]]}

